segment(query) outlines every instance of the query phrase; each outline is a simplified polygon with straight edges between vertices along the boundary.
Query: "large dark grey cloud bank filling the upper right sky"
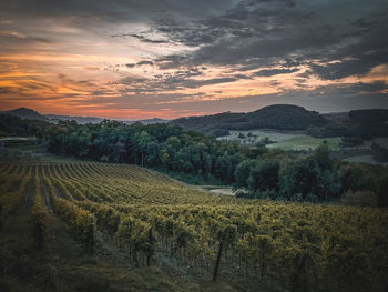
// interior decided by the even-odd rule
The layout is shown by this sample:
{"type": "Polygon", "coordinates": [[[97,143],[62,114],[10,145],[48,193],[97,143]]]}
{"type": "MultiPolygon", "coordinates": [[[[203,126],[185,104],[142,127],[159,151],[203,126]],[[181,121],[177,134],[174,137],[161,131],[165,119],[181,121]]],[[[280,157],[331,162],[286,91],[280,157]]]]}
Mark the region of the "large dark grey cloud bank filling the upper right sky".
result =
{"type": "Polygon", "coordinates": [[[388,4],[372,2],[239,1],[218,17],[159,21],[155,30],[172,42],[198,47],[190,54],[164,57],[161,68],[207,63],[254,70],[279,62],[293,67],[312,59],[353,58],[341,63],[338,74],[365,73],[387,61],[388,4]]]}

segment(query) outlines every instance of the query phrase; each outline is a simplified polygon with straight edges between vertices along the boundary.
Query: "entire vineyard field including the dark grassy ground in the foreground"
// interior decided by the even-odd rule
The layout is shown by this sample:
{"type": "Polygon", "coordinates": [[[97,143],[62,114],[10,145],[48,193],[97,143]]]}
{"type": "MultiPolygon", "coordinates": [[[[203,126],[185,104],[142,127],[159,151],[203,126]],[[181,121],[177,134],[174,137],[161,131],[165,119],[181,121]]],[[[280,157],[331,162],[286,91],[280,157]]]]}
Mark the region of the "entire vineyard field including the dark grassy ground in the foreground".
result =
{"type": "Polygon", "coordinates": [[[1,291],[382,292],[388,284],[384,209],[211,195],[100,162],[3,161],[0,182],[1,291]]]}

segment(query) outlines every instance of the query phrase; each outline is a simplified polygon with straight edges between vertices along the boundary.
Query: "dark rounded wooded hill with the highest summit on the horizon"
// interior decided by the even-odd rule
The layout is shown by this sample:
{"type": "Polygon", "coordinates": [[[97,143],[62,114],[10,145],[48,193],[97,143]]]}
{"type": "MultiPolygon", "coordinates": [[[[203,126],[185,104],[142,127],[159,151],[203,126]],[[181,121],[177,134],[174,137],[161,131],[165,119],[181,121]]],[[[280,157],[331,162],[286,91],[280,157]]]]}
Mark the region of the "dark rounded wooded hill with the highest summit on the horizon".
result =
{"type": "Polygon", "coordinates": [[[204,117],[188,117],[172,121],[186,130],[196,130],[214,135],[223,135],[228,130],[276,129],[306,130],[309,127],[321,127],[327,119],[318,112],[303,107],[275,104],[248,113],[224,112],[204,117]]]}

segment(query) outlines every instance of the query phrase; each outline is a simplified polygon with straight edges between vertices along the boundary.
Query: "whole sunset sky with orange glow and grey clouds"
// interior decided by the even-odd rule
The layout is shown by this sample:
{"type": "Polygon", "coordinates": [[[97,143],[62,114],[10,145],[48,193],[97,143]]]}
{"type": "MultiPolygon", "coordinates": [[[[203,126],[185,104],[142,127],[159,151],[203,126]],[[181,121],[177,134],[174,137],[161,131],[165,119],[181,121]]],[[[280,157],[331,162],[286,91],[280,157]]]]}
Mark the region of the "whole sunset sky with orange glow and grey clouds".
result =
{"type": "Polygon", "coordinates": [[[0,0],[0,110],[388,108],[386,0],[0,0]]]}

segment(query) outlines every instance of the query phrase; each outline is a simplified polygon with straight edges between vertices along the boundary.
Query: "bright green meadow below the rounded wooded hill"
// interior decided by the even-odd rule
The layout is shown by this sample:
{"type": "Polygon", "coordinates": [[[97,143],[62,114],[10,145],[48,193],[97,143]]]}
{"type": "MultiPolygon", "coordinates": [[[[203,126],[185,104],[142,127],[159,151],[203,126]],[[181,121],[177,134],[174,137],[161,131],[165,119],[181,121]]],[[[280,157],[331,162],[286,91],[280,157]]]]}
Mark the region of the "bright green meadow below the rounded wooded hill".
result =
{"type": "Polygon", "coordinates": [[[290,138],[280,142],[267,144],[269,149],[282,149],[284,151],[300,151],[314,150],[321,144],[327,144],[331,150],[339,150],[338,138],[313,138],[309,135],[302,135],[290,138]]]}

